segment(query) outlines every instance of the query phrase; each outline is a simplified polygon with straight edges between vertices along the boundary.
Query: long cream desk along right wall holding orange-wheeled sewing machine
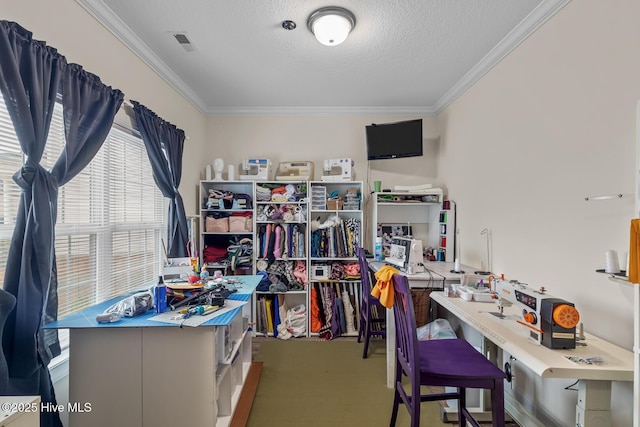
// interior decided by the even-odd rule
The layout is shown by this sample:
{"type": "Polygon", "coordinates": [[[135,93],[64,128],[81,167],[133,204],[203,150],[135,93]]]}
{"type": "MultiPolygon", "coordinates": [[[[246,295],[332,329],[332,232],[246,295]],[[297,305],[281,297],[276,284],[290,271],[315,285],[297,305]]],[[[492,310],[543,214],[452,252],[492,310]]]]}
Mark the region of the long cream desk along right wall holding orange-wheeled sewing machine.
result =
{"type": "MultiPolygon", "coordinates": [[[[490,303],[448,298],[441,292],[432,292],[431,301],[470,325],[485,341],[492,343],[500,353],[491,357],[494,362],[499,363],[501,353],[505,351],[542,378],[579,379],[575,425],[610,425],[611,382],[633,381],[633,352],[590,334],[585,334],[586,346],[577,346],[572,350],[551,350],[529,339],[527,329],[515,322],[514,319],[519,318],[521,313],[516,306],[505,308],[504,315],[507,317],[500,319],[489,313],[496,311],[496,306],[490,303]],[[574,363],[565,357],[593,355],[602,356],[604,365],[574,363]]],[[[509,414],[521,425],[531,425],[518,419],[518,402],[514,399],[507,401],[507,397],[505,395],[505,408],[509,414]]]]}

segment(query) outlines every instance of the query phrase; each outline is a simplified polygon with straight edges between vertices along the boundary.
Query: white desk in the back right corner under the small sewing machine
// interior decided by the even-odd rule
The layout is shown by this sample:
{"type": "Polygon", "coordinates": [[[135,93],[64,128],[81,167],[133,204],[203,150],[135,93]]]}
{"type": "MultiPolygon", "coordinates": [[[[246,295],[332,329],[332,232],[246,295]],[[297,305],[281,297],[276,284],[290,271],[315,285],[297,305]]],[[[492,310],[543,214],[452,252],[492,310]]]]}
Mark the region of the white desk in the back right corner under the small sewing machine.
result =
{"type": "MultiPolygon", "coordinates": [[[[369,268],[374,272],[378,271],[386,265],[380,261],[369,261],[369,268]]],[[[411,288],[433,288],[443,289],[444,285],[460,283],[464,274],[473,274],[474,268],[468,265],[461,265],[461,271],[465,273],[452,273],[454,263],[444,261],[425,261],[424,273],[406,275],[409,279],[411,288]]],[[[404,274],[403,272],[400,272],[404,274]]],[[[375,285],[375,282],[371,284],[375,285]]],[[[393,320],[393,309],[387,309],[385,328],[386,346],[387,346],[387,387],[394,388],[395,372],[396,372],[396,325],[393,320]]]]}

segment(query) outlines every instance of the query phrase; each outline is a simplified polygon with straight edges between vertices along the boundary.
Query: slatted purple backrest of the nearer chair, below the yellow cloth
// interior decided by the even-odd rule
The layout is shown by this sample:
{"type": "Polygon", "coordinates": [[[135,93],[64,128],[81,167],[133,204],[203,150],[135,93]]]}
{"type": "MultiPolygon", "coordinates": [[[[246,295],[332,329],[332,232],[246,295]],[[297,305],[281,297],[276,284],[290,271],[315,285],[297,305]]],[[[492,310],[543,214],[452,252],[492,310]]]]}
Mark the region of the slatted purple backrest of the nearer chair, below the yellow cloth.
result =
{"type": "Polygon", "coordinates": [[[419,384],[418,334],[413,311],[411,289],[406,276],[393,275],[393,315],[396,325],[396,358],[405,374],[414,384],[419,384]]]}

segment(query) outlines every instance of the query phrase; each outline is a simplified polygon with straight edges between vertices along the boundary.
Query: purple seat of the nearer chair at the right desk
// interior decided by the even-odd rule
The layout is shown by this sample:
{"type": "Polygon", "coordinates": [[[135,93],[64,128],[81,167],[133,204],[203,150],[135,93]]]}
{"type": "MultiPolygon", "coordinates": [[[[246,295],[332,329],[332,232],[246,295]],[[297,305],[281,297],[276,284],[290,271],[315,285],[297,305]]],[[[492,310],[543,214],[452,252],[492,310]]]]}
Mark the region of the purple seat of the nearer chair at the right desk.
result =
{"type": "MultiPolygon", "coordinates": [[[[421,377],[429,385],[492,388],[504,372],[464,339],[418,341],[421,377]]],[[[424,384],[424,383],[423,383],[424,384]]]]}

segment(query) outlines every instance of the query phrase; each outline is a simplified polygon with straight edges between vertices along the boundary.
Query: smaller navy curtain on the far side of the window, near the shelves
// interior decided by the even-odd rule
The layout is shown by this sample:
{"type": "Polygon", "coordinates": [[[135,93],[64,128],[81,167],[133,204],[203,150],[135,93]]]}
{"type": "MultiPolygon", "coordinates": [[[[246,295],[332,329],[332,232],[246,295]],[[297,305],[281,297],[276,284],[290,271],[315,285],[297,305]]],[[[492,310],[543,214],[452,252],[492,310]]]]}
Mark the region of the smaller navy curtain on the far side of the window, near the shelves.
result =
{"type": "Polygon", "coordinates": [[[184,203],[178,192],[182,179],[184,131],[162,120],[144,105],[131,102],[138,131],[151,161],[153,179],[162,195],[170,199],[167,252],[171,258],[186,257],[189,232],[184,203]]]}

